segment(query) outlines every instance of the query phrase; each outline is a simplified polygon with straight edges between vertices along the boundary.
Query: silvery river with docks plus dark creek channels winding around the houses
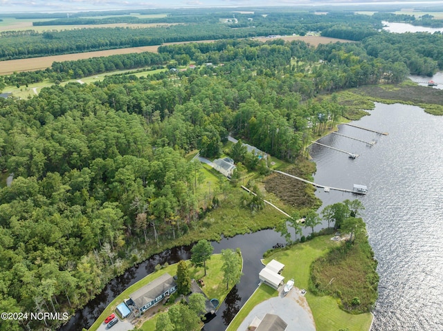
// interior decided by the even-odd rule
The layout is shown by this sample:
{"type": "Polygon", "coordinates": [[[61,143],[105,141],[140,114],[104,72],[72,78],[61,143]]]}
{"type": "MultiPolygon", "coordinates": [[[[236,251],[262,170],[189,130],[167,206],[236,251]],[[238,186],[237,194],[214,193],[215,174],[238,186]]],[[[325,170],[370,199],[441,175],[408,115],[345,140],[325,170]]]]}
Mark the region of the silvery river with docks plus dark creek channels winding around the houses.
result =
{"type": "MultiPolygon", "coordinates": [[[[340,133],[367,141],[377,139],[374,146],[338,135],[320,140],[357,153],[359,158],[350,160],[345,153],[323,146],[311,148],[317,164],[315,182],[345,189],[352,189],[354,184],[367,185],[368,195],[325,193],[320,189],[316,194],[323,206],[347,198],[359,198],[365,205],[364,220],[380,275],[372,331],[443,330],[443,117],[401,104],[377,104],[370,113],[354,124],[389,135],[346,125],[340,126],[340,133]]],[[[257,287],[262,254],[283,242],[279,234],[265,230],[213,243],[215,252],[242,249],[244,276],[215,319],[205,325],[205,331],[226,330],[257,287]]],[[[129,269],[60,330],[89,328],[127,286],[152,272],[158,263],[190,258],[189,250],[190,247],[171,249],[129,269]]]]}

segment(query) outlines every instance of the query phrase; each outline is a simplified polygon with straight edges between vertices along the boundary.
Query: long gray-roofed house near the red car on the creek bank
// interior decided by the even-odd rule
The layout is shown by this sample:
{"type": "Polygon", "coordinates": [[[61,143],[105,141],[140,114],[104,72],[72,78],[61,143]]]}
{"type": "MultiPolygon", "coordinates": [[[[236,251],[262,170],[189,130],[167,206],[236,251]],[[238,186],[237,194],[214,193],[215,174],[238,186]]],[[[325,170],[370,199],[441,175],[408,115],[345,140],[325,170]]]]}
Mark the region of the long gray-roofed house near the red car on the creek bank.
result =
{"type": "Polygon", "coordinates": [[[129,298],[136,306],[138,313],[143,314],[143,312],[159,303],[162,299],[170,296],[170,294],[175,291],[177,291],[177,283],[170,274],[166,273],[136,290],[129,298]]]}

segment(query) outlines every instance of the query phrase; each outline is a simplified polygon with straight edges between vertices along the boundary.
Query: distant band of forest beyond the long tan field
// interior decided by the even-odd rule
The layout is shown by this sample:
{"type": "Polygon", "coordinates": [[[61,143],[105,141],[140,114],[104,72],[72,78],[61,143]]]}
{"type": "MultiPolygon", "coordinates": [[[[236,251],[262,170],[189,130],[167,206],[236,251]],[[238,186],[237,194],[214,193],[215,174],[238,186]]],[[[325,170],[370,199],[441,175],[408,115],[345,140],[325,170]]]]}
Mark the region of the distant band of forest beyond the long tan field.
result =
{"type": "MultiPolygon", "coordinates": [[[[144,20],[144,19],[143,19],[144,20]]],[[[111,17],[109,19],[70,18],[52,21],[54,24],[68,22],[109,23],[143,21],[135,17],[111,17]]],[[[164,42],[197,41],[204,39],[236,39],[267,35],[306,35],[310,31],[328,30],[331,37],[339,35],[361,40],[381,28],[379,21],[369,15],[331,12],[316,15],[313,12],[270,11],[268,15],[215,12],[211,15],[185,15],[178,12],[168,17],[146,19],[150,23],[180,23],[156,28],[78,28],[50,32],[3,32],[1,33],[0,61],[47,55],[91,52],[114,48],[160,45],[164,42]],[[233,19],[235,15],[235,19],[233,19]],[[226,23],[226,19],[230,23],[226,23]],[[347,22],[351,31],[334,30],[347,22]],[[186,24],[183,26],[182,24],[186,24]],[[358,26],[358,32],[352,27],[358,26]],[[332,29],[332,30],[330,30],[332,29]]],[[[46,24],[42,22],[41,24],[46,24]]],[[[37,23],[36,23],[37,24],[37,23]]],[[[40,24],[40,23],[38,23],[40,24]]]]}

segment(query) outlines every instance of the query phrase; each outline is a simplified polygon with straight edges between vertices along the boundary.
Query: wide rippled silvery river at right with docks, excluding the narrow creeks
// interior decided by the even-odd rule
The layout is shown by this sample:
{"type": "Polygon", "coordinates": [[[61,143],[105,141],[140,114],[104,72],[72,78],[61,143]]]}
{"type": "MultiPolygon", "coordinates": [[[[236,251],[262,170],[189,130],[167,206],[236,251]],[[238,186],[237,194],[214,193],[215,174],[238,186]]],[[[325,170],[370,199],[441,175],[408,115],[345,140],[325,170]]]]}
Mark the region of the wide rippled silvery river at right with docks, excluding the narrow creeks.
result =
{"type": "MultiPolygon", "coordinates": [[[[322,140],[361,156],[315,146],[315,181],[336,187],[368,185],[365,205],[369,240],[379,261],[379,299],[372,331],[443,330],[443,117],[415,106],[377,104],[356,125],[387,131],[388,136],[340,126],[340,133],[367,147],[330,135],[322,140]]],[[[347,193],[316,195],[323,205],[352,198],[347,193]]]]}

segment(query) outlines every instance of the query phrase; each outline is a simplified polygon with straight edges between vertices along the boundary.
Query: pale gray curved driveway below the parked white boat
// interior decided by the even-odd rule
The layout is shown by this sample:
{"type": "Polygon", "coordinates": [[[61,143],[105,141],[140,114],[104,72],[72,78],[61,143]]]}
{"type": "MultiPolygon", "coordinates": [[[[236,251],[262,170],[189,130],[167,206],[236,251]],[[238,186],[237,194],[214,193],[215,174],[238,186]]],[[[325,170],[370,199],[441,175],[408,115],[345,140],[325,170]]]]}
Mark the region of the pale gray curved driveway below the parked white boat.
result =
{"type": "Polygon", "coordinates": [[[285,331],[316,331],[314,317],[305,296],[300,289],[293,287],[286,296],[282,296],[283,286],[279,288],[277,297],[263,301],[256,305],[240,324],[237,331],[246,331],[255,316],[263,319],[266,314],[275,314],[287,323],[285,331]]]}

